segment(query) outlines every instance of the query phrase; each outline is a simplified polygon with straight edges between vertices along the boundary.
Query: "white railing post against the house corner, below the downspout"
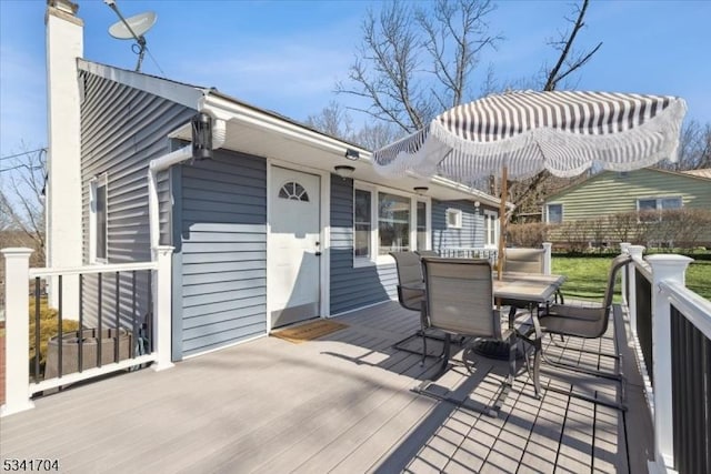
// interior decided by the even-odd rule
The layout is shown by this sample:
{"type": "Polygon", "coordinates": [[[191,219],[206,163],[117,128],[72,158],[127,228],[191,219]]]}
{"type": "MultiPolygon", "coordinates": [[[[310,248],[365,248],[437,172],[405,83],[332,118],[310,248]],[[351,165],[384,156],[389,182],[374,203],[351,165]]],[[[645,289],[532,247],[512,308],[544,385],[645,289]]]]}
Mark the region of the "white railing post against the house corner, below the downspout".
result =
{"type": "Polygon", "coordinates": [[[158,245],[153,249],[153,261],[158,262],[156,282],[153,284],[153,350],[158,353],[158,360],[152,365],[153,370],[162,371],[173,366],[171,357],[171,325],[172,325],[172,270],[171,258],[173,249],[170,245],[158,245]]]}

